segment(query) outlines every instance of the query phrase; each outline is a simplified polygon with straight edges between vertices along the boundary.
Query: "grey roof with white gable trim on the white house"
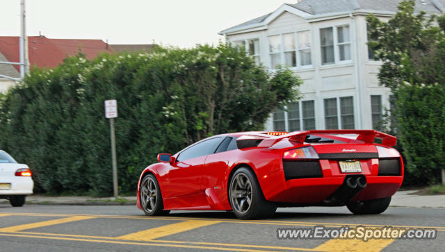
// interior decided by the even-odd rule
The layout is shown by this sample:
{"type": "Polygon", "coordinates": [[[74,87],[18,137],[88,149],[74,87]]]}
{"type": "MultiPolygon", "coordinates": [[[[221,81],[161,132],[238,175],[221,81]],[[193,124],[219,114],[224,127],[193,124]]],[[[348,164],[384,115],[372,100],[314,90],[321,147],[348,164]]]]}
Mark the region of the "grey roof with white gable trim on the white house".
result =
{"type": "MultiPolygon", "coordinates": [[[[323,15],[340,12],[388,12],[394,13],[402,0],[302,0],[298,3],[286,3],[275,12],[257,17],[243,24],[220,31],[220,34],[234,33],[253,27],[266,26],[272,22],[270,17],[277,17],[284,11],[293,12],[300,17],[311,19],[323,15]],[[288,6],[289,8],[286,8],[288,6]],[[298,13],[296,13],[298,11],[298,13]]],[[[430,14],[443,14],[445,0],[415,0],[416,12],[425,11],[430,14]]]]}

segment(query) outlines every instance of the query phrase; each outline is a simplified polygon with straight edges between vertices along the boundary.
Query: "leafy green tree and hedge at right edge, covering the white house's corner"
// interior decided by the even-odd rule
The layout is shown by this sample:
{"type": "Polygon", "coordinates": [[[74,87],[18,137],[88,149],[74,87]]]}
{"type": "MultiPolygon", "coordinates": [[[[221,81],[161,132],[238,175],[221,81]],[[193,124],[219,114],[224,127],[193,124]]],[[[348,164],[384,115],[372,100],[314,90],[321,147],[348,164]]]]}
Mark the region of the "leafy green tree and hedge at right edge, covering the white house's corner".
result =
{"type": "Polygon", "coordinates": [[[402,1],[388,22],[367,17],[369,47],[383,62],[380,84],[393,94],[387,125],[398,135],[408,174],[416,183],[437,183],[445,165],[445,16],[416,14],[414,6],[402,1]]]}

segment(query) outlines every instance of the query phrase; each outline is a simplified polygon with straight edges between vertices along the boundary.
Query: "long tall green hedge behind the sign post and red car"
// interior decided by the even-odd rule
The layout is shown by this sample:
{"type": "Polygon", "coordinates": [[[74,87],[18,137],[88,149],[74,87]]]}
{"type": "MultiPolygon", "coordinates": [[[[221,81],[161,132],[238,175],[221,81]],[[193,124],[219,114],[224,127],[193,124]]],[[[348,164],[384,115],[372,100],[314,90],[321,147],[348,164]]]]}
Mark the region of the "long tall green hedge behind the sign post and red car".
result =
{"type": "Polygon", "coordinates": [[[121,193],[133,194],[156,154],[204,137],[263,128],[270,112],[298,100],[300,78],[266,72],[226,44],[66,58],[33,68],[0,96],[0,149],[33,169],[36,192],[110,195],[111,146],[104,100],[115,119],[121,193]]]}

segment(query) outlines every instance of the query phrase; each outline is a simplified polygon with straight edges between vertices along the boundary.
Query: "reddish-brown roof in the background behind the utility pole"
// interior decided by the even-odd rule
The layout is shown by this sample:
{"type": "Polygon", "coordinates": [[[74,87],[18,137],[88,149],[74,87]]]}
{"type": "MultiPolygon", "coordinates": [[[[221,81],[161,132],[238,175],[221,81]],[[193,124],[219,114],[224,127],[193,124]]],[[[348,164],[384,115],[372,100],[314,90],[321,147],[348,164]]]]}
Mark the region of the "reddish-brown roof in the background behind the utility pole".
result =
{"type": "MultiPolygon", "coordinates": [[[[102,40],[59,40],[45,36],[28,37],[28,50],[31,67],[56,67],[79,50],[88,59],[95,58],[98,53],[114,52],[102,40]]],[[[0,37],[0,53],[6,57],[5,61],[19,62],[19,37],[0,37]]],[[[19,66],[14,67],[19,71],[19,66]]]]}

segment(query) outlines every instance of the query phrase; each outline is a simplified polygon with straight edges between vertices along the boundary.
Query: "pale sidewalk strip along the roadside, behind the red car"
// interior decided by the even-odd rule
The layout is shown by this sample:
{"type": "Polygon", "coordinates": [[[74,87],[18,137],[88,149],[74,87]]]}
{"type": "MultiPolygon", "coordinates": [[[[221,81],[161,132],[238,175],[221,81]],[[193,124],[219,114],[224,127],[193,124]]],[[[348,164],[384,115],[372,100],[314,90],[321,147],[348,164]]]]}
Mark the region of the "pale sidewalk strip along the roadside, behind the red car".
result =
{"type": "MultiPolygon", "coordinates": [[[[445,195],[414,195],[411,191],[399,191],[391,200],[393,207],[405,208],[445,208],[445,195]]],[[[0,203],[5,201],[0,199],[0,203]]],[[[95,198],[91,196],[42,196],[26,197],[26,204],[39,205],[136,205],[136,196],[95,198]]]]}

